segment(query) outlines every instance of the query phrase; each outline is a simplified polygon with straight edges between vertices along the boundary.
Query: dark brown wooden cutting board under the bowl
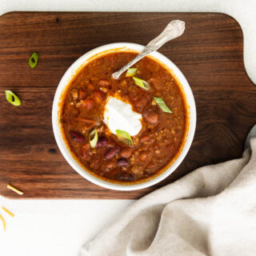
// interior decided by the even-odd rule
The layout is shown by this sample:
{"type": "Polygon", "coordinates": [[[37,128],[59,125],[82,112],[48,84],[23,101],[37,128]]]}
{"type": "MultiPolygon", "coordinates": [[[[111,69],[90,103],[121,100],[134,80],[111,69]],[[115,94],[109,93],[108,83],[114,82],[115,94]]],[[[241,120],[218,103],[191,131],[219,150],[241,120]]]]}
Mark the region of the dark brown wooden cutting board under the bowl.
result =
{"type": "Polygon", "coordinates": [[[9,13],[0,17],[0,194],[8,198],[140,198],[199,166],[239,158],[256,122],[256,88],[243,63],[242,30],[233,18],[210,13],[9,13]],[[185,74],[198,122],[181,166],[148,189],[118,192],[77,174],[54,140],[51,107],[66,69],[110,42],[146,45],[172,19],[185,34],[159,50],[185,74]],[[28,66],[30,54],[38,66],[28,66]],[[13,90],[22,106],[6,102],[13,90]],[[24,191],[7,190],[7,183],[24,191]]]}

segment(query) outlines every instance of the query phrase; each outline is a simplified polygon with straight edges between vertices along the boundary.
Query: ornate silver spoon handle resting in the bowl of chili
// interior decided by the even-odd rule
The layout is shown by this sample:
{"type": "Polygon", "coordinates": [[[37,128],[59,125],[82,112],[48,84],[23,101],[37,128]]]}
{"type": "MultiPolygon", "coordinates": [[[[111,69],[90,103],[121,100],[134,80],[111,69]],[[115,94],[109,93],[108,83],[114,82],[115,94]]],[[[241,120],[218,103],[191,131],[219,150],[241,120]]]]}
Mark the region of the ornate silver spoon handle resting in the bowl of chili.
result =
{"type": "Polygon", "coordinates": [[[171,39],[180,37],[183,34],[184,30],[185,30],[185,22],[182,22],[179,20],[171,21],[166,26],[166,28],[162,31],[162,33],[159,34],[158,37],[150,41],[145,46],[145,48],[133,60],[131,60],[129,63],[126,64],[126,66],[123,66],[117,72],[114,72],[112,74],[112,78],[118,79],[123,72],[128,70],[140,59],[144,58],[148,54],[151,54],[155,50],[158,50],[162,45],[164,45],[166,42],[170,41],[171,39]]]}

